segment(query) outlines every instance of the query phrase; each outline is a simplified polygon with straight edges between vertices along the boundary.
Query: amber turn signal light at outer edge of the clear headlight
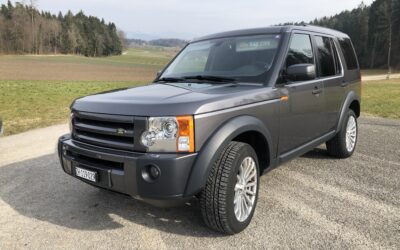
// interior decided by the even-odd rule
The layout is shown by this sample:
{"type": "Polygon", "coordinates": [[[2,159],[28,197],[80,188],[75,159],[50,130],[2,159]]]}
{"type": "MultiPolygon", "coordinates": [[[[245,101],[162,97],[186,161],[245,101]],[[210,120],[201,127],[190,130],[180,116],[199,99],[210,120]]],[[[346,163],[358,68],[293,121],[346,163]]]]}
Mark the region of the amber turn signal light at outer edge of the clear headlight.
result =
{"type": "Polygon", "coordinates": [[[178,116],[176,120],[179,124],[176,151],[194,153],[193,116],[178,116]]]}

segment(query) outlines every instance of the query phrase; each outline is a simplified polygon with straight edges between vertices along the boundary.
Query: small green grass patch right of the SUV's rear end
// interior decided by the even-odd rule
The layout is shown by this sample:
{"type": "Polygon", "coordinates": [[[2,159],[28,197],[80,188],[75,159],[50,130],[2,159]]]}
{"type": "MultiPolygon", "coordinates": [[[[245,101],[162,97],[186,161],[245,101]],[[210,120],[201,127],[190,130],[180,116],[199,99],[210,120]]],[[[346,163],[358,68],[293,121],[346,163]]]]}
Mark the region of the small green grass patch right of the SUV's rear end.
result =
{"type": "Polygon", "coordinates": [[[374,116],[400,119],[400,79],[363,83],[361,109],[374,116]]]}

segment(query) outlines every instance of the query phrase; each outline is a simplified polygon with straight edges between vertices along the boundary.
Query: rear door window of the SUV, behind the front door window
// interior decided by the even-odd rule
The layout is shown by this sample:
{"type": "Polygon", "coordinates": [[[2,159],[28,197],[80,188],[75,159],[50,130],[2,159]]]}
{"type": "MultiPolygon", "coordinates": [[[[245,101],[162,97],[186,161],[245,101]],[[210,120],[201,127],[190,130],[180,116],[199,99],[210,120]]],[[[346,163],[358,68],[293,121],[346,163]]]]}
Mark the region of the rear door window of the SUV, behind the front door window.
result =
{"type": "Polygon", "coordinates": [[[316,36],[315,43],[318,50],[319,76],[326,77],[336,75],[331,39],[328,37],[316,36]]]}

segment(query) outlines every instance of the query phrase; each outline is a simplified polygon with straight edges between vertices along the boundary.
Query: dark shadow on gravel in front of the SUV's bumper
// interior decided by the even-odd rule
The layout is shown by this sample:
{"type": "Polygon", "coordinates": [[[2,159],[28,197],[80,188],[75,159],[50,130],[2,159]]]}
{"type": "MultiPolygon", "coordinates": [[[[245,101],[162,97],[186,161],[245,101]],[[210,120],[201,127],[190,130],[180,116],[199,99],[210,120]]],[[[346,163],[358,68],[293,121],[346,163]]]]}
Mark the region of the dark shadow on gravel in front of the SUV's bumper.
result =
{"type": "Polygon", "coordinates": [[[123,218],[168,233],[223,237],[204,225],[197,200],[156,208],[100,190],[66,175],[55,154],[0,167],[0,187],[0,198],[21,215],[71,229],[116,229],[123,218]]]}

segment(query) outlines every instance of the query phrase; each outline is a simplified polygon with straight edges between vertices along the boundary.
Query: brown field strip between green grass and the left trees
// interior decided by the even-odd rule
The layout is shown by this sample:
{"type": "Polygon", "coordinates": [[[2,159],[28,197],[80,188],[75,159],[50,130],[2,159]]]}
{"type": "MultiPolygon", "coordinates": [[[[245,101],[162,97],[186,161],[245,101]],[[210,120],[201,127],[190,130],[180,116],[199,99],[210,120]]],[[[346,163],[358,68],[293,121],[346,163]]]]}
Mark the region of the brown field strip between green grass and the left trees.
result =
{"type": "Polygon", "coordinates": [[[176,49],[130,49],[122,56],[0,56],[0,80],[148,81],[176,49]]]}

